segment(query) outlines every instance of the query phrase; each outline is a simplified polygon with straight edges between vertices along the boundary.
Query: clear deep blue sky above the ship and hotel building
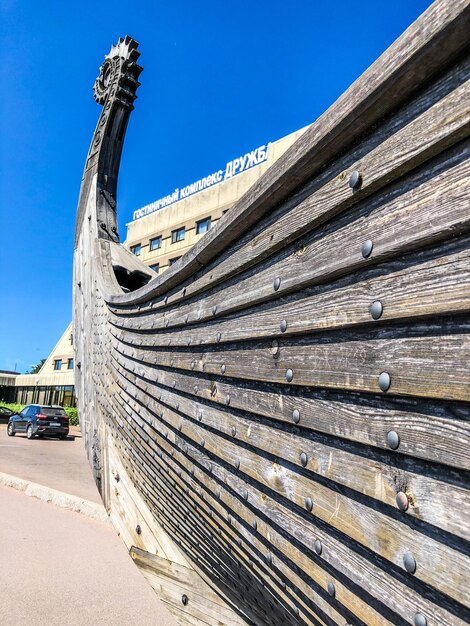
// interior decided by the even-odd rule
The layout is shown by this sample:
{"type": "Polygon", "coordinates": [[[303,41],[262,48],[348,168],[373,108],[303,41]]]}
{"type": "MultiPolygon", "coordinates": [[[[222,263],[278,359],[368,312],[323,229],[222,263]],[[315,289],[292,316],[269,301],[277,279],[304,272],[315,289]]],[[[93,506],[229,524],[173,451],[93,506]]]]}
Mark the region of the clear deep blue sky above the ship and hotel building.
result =
{"type": "Polygon", "coordinates": [[[313,122],[428,0],[0,0],[0,369],[46,357],[71,319],[92,86],[120,36],[142,86],[119,180],[132,212],[313,122]]]}

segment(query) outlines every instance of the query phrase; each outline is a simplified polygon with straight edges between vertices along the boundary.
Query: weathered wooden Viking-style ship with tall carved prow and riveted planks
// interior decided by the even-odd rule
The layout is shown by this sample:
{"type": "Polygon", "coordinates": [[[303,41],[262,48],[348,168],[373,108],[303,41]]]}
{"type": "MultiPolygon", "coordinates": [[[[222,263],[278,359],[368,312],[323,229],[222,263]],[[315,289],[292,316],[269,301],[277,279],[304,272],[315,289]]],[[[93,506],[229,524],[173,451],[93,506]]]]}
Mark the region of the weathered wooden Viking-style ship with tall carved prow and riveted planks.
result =
{"type": "Polygon", "coordinates": [[[117,234],[137,44],[105,59],[78,407],[181,624],[470,623],[468,32],[433,4],[161,276],[117,234]]]}

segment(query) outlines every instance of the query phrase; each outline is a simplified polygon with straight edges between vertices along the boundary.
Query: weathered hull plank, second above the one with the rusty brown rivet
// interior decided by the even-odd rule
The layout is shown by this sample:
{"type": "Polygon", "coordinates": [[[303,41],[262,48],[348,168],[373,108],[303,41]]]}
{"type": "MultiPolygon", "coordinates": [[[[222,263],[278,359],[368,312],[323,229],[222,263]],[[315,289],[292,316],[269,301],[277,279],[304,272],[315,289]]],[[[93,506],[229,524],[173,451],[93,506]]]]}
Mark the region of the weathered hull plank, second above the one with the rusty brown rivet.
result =
{"type": "MultiPolygon", "coordinates": [[[[465,329],[468,326],[459,325],[457,329],[427,324],[409,329],[413,334],[420,331],[421,336],[414,337],[394,337],[397,331],[392,328],[371,330],[367,336],[351,332],[301,340],[279,339],[275,358],[271,342],[266,341],[193,352],[156,351],[121,342],[121,351],[132,360],[159,367],[372,393],[380,392],[380,375],[385,372],[390,377],[386,393],[468,401],[470,337],[463,334],[465,329]],[[457,330],[462,334],[457,334],[457,330]]],[[[403,329],[400,334],[403,335],[403,329]]]]}

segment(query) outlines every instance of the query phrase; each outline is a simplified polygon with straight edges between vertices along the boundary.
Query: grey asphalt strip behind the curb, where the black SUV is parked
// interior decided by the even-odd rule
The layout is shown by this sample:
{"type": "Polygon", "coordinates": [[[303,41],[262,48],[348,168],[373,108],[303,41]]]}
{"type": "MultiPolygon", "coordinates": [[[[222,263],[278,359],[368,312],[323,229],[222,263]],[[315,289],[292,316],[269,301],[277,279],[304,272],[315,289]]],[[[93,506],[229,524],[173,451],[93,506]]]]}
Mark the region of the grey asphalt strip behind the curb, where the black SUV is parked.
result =
{"type": "MultiPolygon", "coordinates": [[[[79,433],[78,429],[71,429],[79,433]]],[[[0,424],[0,472],[101,503],[81,437],[26,439],[8,437],[0,424]]]]}

